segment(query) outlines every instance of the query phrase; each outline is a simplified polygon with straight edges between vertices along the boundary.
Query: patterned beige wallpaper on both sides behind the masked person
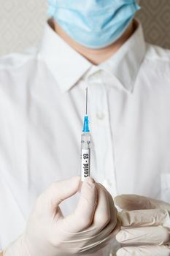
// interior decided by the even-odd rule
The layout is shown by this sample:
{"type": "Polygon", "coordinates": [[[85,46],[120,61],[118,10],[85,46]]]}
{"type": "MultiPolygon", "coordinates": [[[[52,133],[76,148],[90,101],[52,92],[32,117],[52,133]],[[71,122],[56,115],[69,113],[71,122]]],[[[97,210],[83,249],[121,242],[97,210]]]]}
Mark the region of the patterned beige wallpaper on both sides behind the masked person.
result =
{"type": "MultiPolygon", "coordinates": [[[[147,41],[170,48],[170,0],[141,0],[141,5],[137,17],[147,41]]],[[[36,45],[46,10],[46,0],[0,0],[0,55],[36,45]]]]}

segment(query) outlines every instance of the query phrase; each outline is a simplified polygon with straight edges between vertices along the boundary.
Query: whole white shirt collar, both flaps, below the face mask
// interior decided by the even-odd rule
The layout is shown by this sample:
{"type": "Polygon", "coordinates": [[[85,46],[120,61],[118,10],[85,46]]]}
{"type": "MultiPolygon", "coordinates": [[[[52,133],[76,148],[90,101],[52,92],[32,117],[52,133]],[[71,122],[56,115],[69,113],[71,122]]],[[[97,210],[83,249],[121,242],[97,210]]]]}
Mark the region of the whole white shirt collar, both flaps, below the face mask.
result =
{"type": "Polygon", "coordinates": [[[63,92],[71,89],[86,72],[89,74],[91,70],[98,69],[113,75],[123,89],[133,92],[146,48],[142,26],[136,22],[136,31],[117,53],[104,63],[94,66],[55,33],[53,23],[49,20],[39,48],[39,58],[45,61],[63,92]]]}

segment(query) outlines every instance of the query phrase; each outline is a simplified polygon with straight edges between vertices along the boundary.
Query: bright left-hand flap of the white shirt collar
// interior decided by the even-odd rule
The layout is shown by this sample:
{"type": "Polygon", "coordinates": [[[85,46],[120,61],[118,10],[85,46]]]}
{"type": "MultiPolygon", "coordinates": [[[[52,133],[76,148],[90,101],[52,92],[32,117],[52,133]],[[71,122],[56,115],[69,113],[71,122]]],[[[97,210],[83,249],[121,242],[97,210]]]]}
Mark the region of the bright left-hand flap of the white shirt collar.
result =
{"type": "Polygon", "coordinates": [[[55,33],[52,20],[48,20],[45,26],[39,46],[39,59],[45,61],[62,92],[71,89],[93,66],[55,33]]]}

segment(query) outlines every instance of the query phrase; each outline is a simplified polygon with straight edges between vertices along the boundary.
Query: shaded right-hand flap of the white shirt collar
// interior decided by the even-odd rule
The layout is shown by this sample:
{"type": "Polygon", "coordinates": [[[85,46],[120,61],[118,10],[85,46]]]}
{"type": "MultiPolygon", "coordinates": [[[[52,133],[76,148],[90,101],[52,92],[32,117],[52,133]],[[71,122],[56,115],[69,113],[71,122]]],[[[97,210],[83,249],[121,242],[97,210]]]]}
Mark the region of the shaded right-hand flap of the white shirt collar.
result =
{"type": "Polygon", "coordinates": [[[100,65],[131,93],[134,91],[136,77],[146,52],[142,25],[138,20],[134,22],[137,26],[134,34],[117,50],[117,53],[100,65]]]}

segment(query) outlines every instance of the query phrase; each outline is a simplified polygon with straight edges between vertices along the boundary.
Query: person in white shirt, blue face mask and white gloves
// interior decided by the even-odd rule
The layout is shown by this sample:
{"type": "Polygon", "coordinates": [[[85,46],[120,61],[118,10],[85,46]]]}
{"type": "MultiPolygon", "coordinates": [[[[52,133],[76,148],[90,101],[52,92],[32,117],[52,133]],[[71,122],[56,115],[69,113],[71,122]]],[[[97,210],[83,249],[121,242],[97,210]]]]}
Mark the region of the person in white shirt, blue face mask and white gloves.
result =
{"type": "Polygon", "coordinates": [[[169,255],[170,51],[144,41],[137,1],[49,4],[39,47],[0,59],[1,254],[115,255],[133,226],[117,254],[169,255]],[[81,185],[87,86],[93,178],[81,185]],[[143,223],[144,204],[121,194],[166,201],[163,218],[150,221],[150,203],[143,223]],[[147,225],[159,239],[142,240],[147,225]]]}

